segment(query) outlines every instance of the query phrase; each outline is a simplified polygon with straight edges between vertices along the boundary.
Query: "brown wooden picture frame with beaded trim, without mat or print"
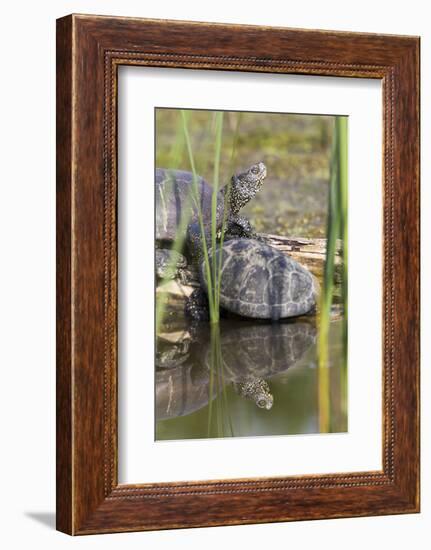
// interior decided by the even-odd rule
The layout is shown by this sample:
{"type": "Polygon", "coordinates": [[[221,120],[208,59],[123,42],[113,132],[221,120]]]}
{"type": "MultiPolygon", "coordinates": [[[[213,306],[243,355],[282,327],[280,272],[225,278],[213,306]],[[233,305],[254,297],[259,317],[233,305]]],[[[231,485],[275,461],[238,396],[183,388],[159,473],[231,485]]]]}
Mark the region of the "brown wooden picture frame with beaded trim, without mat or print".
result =
{"type": "Polygon", "coordinates": [[[419,38],[70,15],[57,21],[57,528],[419,510],[419,38]],[[117,481],[119,65],[377,78],[384,103],[383,470],[117,481]]]}

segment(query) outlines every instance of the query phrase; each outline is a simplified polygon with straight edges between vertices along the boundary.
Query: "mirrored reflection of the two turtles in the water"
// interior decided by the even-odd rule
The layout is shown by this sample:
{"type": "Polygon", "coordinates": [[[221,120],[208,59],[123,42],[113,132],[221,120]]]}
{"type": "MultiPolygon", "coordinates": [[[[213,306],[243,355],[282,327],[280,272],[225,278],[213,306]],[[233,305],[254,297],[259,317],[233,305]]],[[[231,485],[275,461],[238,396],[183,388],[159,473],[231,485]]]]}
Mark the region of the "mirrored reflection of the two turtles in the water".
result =
{"type": "Polygon", "coordinates": [[[252,399],[258,407],[270,409],[273,396],[267,380],[295,365],[316,339],[315,327],[307,322],[245,324],[224,321],[216,343],[220,360],[214,364],[210,330],[200,326],[197,331],[181,356],[178,344],[160,345],[159,340],[157,420],[185,416],[203,408],[220,392],[220,385],[214,383],[219,379],[225,384],[232,383],[240,396],[252,399]],[[176,346],[174,352],[172,346],[176,346]],[[167,364],[173,364],[172,356],[177,366],[166,368],[167,364]],[[213,369],[220,369],[221,376],[213,369]]]}

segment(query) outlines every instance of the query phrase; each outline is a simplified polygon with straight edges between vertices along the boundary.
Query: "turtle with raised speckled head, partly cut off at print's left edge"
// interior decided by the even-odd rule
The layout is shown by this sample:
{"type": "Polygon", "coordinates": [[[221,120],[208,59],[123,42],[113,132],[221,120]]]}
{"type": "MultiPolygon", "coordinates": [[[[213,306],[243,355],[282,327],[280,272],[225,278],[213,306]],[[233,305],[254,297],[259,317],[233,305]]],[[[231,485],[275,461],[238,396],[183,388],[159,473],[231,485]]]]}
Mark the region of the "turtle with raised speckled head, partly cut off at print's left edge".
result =
{"type": "MultiPolygon", "coordinates": [[[[253,164],[244,172],[234,174],[230,184],[220,189],[216,196],[216,230],[221,228],[231,236],[257,237],[249,220],[239,211],[262,187],[266,178],[263,162],[253,164]],[[224,223],[223,223],[224,222],[224,223]]],[[[187,279],[186,265],[198,266],[202,258],[201,227],[198,219],[198,206],[195,200],[197,190],[205,231],[212,224],[212,187],[201,176],[184,170],[156,168],[156,274],[161,279],[179,277],[187,279]],[[186,253],[193,255],[190,262],[171,250],[178,233],[185,231],[186,253]]],[[[181,247],[183,251],[184,247],[181,247]]]]}

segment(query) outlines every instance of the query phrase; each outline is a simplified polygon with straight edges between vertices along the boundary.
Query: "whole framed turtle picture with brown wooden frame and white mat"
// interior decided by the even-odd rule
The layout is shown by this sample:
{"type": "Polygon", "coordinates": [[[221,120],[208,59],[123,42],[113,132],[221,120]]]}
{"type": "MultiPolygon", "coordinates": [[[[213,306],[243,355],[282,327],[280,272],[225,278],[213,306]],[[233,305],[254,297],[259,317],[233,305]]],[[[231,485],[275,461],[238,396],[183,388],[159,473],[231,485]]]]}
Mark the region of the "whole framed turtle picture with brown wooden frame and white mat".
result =
{"type": "Polygon", "coordinates": [[[419,39],[57,21],[57,528],[419,511],[419,39]]]}

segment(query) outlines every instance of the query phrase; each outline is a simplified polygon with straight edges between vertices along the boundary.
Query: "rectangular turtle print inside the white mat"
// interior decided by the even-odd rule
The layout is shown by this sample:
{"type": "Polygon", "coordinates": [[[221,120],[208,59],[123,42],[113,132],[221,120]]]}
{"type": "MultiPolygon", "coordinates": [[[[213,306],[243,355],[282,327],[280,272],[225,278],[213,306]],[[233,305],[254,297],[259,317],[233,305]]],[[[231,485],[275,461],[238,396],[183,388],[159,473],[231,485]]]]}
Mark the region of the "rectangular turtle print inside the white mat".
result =
{"type": "Polygon", "coordinates": [[[348,117],[155,108],[155,439],[348,431],[348,117]]]}

